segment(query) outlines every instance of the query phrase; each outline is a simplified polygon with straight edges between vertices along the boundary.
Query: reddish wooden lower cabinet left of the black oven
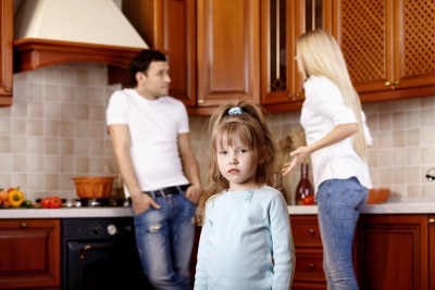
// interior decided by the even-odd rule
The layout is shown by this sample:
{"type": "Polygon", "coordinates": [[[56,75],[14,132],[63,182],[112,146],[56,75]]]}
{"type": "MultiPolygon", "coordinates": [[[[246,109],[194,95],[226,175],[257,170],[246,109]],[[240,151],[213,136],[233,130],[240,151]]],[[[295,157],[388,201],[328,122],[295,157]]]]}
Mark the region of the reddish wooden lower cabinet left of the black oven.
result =
{"type": "Polygon", "coordinates": [[[0,220],[0,289],[60,289],[59,219],[0,220]]]}

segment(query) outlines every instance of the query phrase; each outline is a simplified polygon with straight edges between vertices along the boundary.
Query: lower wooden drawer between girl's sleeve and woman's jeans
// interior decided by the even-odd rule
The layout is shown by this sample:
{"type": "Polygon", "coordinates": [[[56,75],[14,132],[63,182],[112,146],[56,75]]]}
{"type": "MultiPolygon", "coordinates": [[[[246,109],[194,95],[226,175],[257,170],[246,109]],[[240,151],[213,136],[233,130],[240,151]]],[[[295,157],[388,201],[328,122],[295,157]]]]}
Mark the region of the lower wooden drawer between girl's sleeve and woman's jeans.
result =
{"type": "Polygon", "coordinates": [[[323,272],[323,252],[321,250],[296,249],[294,281],[326,282],[323,272]]]}

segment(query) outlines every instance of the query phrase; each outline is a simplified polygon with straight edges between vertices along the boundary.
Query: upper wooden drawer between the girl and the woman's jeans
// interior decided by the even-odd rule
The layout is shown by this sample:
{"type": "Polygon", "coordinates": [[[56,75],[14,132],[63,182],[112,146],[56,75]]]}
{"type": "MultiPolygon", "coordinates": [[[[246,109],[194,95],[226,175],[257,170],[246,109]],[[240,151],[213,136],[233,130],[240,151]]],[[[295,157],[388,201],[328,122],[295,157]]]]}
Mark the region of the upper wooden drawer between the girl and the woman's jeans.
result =
{"type": "Polygon", "coordinates": [[[295,247],[322,248],[316,215],[290,216],[295,247]]]}

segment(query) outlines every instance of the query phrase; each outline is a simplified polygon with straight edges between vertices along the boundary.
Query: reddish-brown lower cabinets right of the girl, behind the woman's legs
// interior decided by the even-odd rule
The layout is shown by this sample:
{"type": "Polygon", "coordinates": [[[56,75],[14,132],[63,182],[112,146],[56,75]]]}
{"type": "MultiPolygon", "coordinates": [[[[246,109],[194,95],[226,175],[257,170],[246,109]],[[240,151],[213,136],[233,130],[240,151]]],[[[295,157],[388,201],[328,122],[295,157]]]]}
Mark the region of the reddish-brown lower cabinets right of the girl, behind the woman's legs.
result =
{"type": "MultiPolygon", "coordinates": [[[[326,289],[318,216],[290,215],[296,251],[291,289],[326,289]]],[[[435,215],[362,214],[353,240],[361,290],[435,289],[435,215]]]]}

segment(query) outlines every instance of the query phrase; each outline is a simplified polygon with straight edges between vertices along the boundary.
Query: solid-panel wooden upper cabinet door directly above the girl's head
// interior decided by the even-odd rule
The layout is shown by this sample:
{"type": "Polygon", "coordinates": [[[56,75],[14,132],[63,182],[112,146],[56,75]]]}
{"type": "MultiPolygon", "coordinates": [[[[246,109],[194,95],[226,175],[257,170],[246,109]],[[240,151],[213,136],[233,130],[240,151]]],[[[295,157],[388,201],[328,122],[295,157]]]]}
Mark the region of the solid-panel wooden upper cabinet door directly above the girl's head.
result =
{"type": "Polygon", "coordinates": [[[260,99],[259,0],[197,2],[198,106],[260,99]]]}

